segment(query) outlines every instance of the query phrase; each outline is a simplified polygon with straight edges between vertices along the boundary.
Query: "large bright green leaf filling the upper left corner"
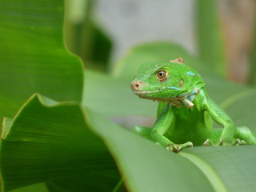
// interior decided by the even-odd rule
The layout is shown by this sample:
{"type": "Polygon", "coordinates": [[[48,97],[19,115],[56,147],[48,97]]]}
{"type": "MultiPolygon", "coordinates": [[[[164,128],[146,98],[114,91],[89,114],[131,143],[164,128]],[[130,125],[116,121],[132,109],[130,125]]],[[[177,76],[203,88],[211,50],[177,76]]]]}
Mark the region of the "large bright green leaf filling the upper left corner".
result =
{"type": "Polygon", "coordinates": [[[80,102],[82,64],[63,42],[63,1],[2,0],[0,21],[0,117],[34,93],[80,102]]]}

